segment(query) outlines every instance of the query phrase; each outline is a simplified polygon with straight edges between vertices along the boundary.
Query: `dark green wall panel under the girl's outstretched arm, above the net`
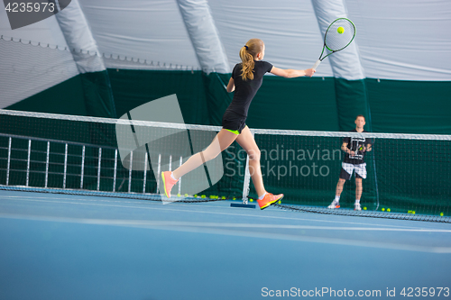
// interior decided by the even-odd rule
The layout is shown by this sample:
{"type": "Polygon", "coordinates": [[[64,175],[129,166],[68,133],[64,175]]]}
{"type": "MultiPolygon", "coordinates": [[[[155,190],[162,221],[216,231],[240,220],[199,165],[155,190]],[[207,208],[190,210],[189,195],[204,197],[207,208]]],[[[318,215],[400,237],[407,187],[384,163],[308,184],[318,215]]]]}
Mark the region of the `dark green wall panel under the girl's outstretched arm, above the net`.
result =
{"type": "Polygon", "coordinates": [[[252,128],[337,131],[334,78],[264,77],[246,123],[252,128]]]}

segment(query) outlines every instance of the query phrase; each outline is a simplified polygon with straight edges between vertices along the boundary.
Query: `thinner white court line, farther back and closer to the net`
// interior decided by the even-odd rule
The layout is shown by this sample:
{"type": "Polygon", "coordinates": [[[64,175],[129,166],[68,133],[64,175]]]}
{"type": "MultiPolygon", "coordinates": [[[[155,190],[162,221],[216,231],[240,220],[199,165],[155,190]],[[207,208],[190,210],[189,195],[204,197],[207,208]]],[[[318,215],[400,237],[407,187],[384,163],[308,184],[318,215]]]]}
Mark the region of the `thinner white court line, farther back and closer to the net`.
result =
{"type": "MultiPolygon", "coordinates": [[[[371,223],[357,223],[357,222],[344,222],[344,221],[331,221],[331,220],[317,220],[317,219],[306,219],[306,218],[290,218],[290,217],[281,217],[281,216],[272,216],[272,215],[258,215],[258,214],[232,214],[232,213],[219,213],[219,212],[211,212],[211,211],[199,211],[199,210],[189,210],[189,209],[175,209],[175,208],[169,208],[167,206],[164,207],[157,207],[156,205],[160,205],[160,202],[158,201],[145,201],[137,199],[135,201],[122,201],[122,200],[102,200],[102,199],[86,199],[84,197],[77,198],[78,201],[85,201],[85,202],[91,202],[91,203],[80,203],[80,202],[73,202],[74,199],[66,200],[66,198],[54,198],[54,197],[42,197],[40,200],[40,197],[21,197],[21,196],[8,196],[4,195],[2,196],[4,198],[6,197],[17,197],[20,198],[19,200],[23,201],[32,201],[32,202],[41,202],[41,203],[58,203],[58,204],[70,204],[70,205],[96,205],[96,206],[107,206],[107,207],[122,207],[122,208],[143,208],[143,209],[153,209],[153,210],[161,210],[161,211],[170,211],[170,212],[187,212],[187,213],[199,213],[199,214],[222,214],[222,215],[232,215],[232,216],[249,216],[249,217],[257,217],[257,218],[269,218],[269,219],[281,219],[281,220],[296,220],[296,221],[312,221],[312,222],[320,222],[320,223],[344,223],[344,224],[356,224],[356,225],[373,225],[373,226],[382,226],[382,227],[390,227],[390,228],[406,228],[406,229],[417,229],[418,227],[415,226],[400,226],[400,225],[388,225],[388,224],[371,224],[371,223]],[[65,201],[54,201],[54,199],[61,199],[65,201]],[[145,201],[145,202],[144,202],[145,201]],[[105,202],[105,203],[113,203],[113,204],[121,204],[121,203],[127,203],[127,204],[143,204],[143,205],[152,205],[152,207],[146,207],[146,206],[129,206],[129,205],[105,205],[105,204],[99,204],[98,202],[105,202]]],[[[205,208],[205,205],[195,205],[195,204],[182,204],[175,202],[176,205],[182,205],[182,206],[198,206],[205,208]]],[[[273,210],[272,212],[277,212],[277,210],[273,210]]],[[[283,212],[281,210],[281,212],[283,212]]],[[[425,224],[422,224],[425,225],[425,224]]]]}

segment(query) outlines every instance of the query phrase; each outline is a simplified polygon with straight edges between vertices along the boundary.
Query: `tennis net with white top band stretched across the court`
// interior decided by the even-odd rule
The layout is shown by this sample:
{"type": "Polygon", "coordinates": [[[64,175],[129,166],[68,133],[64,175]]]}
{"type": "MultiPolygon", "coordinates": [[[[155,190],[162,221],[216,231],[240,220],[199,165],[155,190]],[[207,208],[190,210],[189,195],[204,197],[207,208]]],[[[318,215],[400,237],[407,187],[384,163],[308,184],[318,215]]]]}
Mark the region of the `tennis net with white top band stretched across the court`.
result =
{"type": "MultiPolygon", "coordinates": [[[[161,171],[204,150],[220,129],[0,110],[0,188],[161,200],[161,171]]],[[[285,194],[281,208],[450,222],[449,135],[251,131],[261,150],[266,190],[285,194]],[[358,155],[363,155],[359,147],[372,144],[364,154],[362,211],[354,211],[354,175],[345,182],[341,207],[327,209],[343,168],[344,139],[358,145],[358,155]]],[[[172,190],[174,199],[253,201],[248,165],[234,142],[182,177],[172,190]]]]}

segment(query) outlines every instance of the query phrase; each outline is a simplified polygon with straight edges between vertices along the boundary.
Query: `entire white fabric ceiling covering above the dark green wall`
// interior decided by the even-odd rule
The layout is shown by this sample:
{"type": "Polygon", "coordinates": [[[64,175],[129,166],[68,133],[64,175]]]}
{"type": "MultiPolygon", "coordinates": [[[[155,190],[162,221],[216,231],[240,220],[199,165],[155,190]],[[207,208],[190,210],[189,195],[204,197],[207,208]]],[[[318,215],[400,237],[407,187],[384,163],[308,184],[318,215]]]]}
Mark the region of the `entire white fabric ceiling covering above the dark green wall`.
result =
{"type": "MultiPolygon", "coordinates": [[[[451,1],[325,1],[328,18],[347,14],[357,34],[351,47],[321,63],[316,76],[451,80],[451,1]],[[345,11],[336,11],[336,5],[345,11]]],[[[238,51],[251,38],[265,42],[265,60],[279,68],[311,68],[323,45],[321,19],[317,19],[321,16],[312,0],[73,0],[67,13],[78,3],[87,20],[82,27],[92,41],[70,32],[71,25],[63,34],[56,17],[12,31],[1,5],[0,35],[4,40],[12,37],[59,49],[72,47],[74,42],[87,48],[85,51],[97,45],[106,68],[209,68],[220,72],[229,72],[240,61],[238,51]],[[68,34],[72,34],[69,45],[68,34]]],[[[77,19],[75,15],[69,19],[77,19]]],[[[2,47],[0,64],[4,69],[12,62],[16,69],[25,69],[21,65],[25,62],[17,57],[20,51],[5,44],[2,47]]],[[[40,59],[37,53],[35,59],[40,59]]],[[[32,64],[34,59],[25,60],[32,64]]],[[[60,66],[72,68],[74,61],[61,58],[60,66]]],[[[85,67],[89,71],[89,66],[85,67]]],[[[0,85],[5,85],[6,73],[0,75],[0,85]]],[[[48,81],[54,82],[55,77],[48,81]]]]}

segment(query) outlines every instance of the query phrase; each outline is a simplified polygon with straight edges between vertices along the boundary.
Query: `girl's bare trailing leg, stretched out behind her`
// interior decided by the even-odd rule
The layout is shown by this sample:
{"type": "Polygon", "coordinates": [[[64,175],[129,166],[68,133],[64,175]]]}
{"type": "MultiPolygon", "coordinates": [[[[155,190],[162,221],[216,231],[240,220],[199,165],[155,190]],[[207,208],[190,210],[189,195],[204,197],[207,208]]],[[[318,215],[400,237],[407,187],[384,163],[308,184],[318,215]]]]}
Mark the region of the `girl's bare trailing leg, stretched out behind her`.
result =
{"type": "Polygon", "coordinates": [[[216,134],[215,139],[211,142],[206,150],[200,151],[191,156],[187,161],[185,161],[183,165],[181,165],[179,168],[176,168],[172,172],[172,176],[176,179],[179,179],[179,177],[182,177],[193,169],[198,168],[204,162],[215,159],[216,156],[223,150],[226,150],[227,147],[230,146],[237,137],[237,134],[229,132],[226,129],[221,129],[221,131],[216,134]]]}

